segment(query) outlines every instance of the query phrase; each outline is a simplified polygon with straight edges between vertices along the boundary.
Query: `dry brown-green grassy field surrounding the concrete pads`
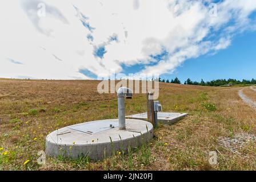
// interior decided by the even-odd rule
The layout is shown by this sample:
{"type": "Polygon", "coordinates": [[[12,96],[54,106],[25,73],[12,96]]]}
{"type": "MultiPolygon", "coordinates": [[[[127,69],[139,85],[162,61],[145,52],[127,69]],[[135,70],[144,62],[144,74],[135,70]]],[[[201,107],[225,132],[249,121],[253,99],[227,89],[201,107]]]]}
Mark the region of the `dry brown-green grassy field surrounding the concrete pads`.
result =
{"type": "MultiPolygon", "coordinates": [[[[246,141],[236,151],[221,138],[256,134],[256,112],[243,103],[238,87],[160,83],[163,111],[189,115],[171,126],[161,125],[149,144],[103,162],[47,158],[37,164],[51,131],[97,119],[117,118],[115,94],[98,94],[98,81],[0,80],[0,170],[256,170],[256,144],[246,141]],[[216,151],[218,164],[209,164],[216,151]],[[28,161],[29,160],[29,161],[28,161]],[[26,164],[24,164],[27,162],[26,164]]],[[[245,94],[255,99],[249,88],[245,94]]],[[[126,101],[126,114],[146,111],[146,95],[126,101]]]]}

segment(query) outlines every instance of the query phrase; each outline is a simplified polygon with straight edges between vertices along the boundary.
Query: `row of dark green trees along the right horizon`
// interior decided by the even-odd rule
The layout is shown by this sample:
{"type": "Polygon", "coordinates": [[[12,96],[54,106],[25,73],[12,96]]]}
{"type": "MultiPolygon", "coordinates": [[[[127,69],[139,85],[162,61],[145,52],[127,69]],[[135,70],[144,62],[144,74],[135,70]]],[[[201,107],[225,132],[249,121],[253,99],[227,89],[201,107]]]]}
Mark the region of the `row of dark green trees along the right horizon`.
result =
{"type": "MultiPolygon", "coordinates": [[[[166,83],[172,83],[172,84],[181,84],[181,81],[179,78],[174,78],[174,79],[162,79],[159,77],[159,82],[166,82],[166,83]]],[[[243,79],[242,81],[236,80],[229,78],[228,80],[226,79],[217,79],[217,80],[211,80],[211,81],[203,81],[201,82],[198,81],[192,81],[190,78],[187,78],[187,80],[184,82],[185,85],[201,85],[201,86],[231,86],[231,85],[238,85],[238,84],[249,84],[249,85],[254,85],[256,84],[256,80],[253,78],[251,80],[245,80],[243,79]]]]}

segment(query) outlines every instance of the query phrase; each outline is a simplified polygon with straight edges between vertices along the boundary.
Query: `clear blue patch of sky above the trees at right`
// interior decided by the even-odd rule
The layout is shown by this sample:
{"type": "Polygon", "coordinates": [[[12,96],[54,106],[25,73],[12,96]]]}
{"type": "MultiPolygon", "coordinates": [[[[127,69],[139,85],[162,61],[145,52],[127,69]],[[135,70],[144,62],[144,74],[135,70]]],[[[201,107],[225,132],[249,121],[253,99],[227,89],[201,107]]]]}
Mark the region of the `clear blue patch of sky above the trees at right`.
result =
{"type": "Polygon", "coordinates": [[[256,78],[256,32],[237,35],[228,48],[215,55],[189,59],[173,74],[161,77],[169,80],[178,77],[182,82],[187,78],[193,81],[201,81],[202,78],[205,81],[218,78],[256,78]]]}

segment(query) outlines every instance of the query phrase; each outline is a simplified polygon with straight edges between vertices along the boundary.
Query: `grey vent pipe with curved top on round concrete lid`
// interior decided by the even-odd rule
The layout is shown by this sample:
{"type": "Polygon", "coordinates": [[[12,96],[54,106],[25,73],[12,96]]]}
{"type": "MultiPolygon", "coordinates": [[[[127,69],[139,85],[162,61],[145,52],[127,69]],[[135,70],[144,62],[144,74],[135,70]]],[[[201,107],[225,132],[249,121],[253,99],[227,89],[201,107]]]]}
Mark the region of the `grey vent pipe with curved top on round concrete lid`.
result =
{"type": "Polygon", "coordinates": [[[125,98],[132,98],[131,89],[123,86],[117,90],[119,130],[125,130],[125,98]]]}

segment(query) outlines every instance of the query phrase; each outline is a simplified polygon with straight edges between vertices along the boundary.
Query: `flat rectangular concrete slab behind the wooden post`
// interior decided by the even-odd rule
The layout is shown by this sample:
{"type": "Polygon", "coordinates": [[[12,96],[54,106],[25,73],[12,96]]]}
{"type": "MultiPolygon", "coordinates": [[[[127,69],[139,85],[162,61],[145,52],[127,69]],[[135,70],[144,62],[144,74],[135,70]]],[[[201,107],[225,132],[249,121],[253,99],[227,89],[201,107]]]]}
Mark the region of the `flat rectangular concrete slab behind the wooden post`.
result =
{"type": "MultiPolygon", "coordinates": [[[[163,123],[166,125],[171,125],[182,118],[185,118],[187,113],[157,113],[158,123],[163,123]]],[[[147,121],[147,113],[127,115],[126,118],[129,119],[142,119],[147,121]]]]}

